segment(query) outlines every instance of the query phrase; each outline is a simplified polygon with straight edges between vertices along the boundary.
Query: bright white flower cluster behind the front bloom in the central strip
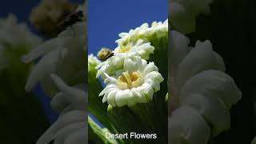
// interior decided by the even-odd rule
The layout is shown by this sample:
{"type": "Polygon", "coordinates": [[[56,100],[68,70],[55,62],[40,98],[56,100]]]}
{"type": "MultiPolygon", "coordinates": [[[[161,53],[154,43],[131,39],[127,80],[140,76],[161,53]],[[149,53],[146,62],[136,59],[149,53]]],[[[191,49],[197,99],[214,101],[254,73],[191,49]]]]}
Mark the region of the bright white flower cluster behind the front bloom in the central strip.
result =
{"type": "Polygon", "coordinates": [[[154,54],[155,47],[150,45],[154,39],[168,35],[168,20],[165,22],[153,22],[151,26],[142,24],[129,33],[121,33],[121,37],[116,42],[118,47],[114,50],[114,57],[111,57],[97,66],[97,77],[103,73],[112,74],[115,70],[122,68],[124,59],[129,56],[139,56],[145,60],[154,54]]]}

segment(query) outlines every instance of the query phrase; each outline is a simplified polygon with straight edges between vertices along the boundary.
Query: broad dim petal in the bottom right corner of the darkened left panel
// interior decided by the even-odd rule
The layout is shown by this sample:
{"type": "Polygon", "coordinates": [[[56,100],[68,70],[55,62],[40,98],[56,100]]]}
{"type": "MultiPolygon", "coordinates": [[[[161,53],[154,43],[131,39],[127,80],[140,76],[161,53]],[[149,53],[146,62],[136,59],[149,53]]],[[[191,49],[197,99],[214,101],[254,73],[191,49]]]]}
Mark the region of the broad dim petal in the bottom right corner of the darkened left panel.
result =
{"type": "Polygon", "coordinates": [[[36,144],[87,143],[87,114],[82,110],[72,110],[61,115],[56,122],[38,139],[36,144]]]}

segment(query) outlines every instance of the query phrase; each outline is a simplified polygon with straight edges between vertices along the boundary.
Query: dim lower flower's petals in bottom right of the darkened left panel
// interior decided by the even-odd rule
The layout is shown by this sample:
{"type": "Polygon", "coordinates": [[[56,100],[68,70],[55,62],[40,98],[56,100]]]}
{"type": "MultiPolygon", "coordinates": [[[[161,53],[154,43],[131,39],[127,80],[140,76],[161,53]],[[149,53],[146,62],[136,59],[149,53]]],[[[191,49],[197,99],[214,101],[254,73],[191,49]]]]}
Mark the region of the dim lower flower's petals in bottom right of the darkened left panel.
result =
{"type": "Polygon", "coordinates": [[[56,122],[38,139],[37,144],[52,140],[55,143],[86,143],[87,114],[85,85],[70,87],[55,74],[51,74],[54,83],[61,91],[51,101],[54,110],[60,112],[56,122]]]}

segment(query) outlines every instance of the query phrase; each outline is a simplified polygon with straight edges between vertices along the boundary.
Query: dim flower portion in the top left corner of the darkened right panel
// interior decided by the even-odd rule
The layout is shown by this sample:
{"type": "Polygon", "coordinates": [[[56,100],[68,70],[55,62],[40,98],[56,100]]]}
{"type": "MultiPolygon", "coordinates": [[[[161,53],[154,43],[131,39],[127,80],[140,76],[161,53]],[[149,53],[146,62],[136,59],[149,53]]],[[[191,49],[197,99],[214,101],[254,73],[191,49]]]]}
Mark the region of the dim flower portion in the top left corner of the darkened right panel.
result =
{"type": "Polygon", "coordinates": [[[210,14],[212,2],[213,0],[170,0],[171,26],[182,34],[194,32],[196,17],[199,14],[210,14]]]}

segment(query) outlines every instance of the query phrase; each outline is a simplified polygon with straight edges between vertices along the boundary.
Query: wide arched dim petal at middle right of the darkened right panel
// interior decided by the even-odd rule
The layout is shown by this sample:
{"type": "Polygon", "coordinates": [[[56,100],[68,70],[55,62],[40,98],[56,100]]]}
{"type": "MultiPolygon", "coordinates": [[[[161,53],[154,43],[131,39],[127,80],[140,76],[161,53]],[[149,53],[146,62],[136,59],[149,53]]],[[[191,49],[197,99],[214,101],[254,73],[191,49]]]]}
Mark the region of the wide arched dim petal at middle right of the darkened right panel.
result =
{"type": "Polygon", "coordinates": [[[181,99],[190,94],[214,95],[221,98],[228,109],[242,96],[234,80],[219,70],[205,70],[190,78],[182,87],[181,99]]]}

